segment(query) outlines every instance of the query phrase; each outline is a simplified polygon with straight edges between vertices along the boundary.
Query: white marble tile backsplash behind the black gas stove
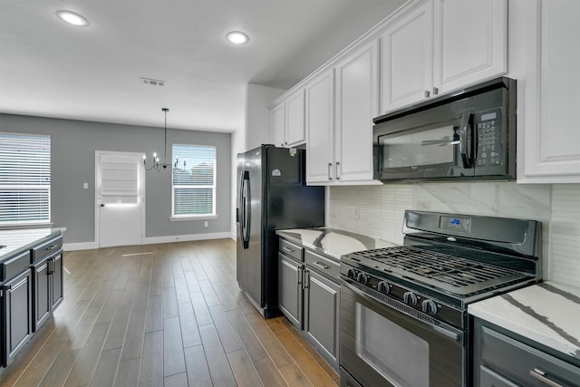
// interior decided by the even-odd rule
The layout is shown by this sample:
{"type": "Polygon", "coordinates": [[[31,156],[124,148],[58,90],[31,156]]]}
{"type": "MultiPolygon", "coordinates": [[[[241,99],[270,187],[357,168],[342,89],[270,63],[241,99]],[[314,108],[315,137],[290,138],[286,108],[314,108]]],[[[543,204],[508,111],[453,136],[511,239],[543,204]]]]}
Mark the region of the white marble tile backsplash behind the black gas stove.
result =
{"type": "Polygon", "coordinates": [[[580,286],[580,184],[459,182],[331,187],[328,225],[402,243],[405,209],[541,220],[544,278],[580,286]]]}

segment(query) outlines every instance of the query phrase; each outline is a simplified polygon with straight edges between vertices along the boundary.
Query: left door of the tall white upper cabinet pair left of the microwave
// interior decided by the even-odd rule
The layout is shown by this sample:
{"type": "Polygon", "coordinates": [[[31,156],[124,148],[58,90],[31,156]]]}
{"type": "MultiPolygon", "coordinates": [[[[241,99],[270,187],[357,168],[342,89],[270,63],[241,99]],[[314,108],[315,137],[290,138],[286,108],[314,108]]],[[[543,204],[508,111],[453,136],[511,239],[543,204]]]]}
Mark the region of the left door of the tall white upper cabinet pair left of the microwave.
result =
{"type": "Polygon", "coordinates": [[[334,70],[306,85],[306,182],[334,180],[334,70]]]}

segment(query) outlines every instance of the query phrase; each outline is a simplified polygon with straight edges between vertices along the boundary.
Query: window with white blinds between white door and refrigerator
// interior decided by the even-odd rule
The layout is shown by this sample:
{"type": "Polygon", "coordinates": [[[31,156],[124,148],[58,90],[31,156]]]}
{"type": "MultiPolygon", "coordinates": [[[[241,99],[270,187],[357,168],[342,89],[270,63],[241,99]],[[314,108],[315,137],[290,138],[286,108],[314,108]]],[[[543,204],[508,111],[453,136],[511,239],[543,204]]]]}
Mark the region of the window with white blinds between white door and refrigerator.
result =
{"type": "Polygon", "coordinates": [[[216,147],[173,144],[172,218],[216,216],[216,147]]]}

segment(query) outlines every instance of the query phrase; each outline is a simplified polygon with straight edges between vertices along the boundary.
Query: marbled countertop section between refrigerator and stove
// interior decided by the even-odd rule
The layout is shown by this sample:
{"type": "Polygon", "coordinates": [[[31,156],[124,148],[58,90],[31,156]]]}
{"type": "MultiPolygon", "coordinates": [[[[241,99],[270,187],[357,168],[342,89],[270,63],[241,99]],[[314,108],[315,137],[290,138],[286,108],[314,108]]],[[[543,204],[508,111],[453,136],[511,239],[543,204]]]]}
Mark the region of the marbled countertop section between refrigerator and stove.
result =
{"type": "Polygon", "coordinates": [[[338,260],[341,259],[341,256],[355,251],[396,246],[395,243],[383,239],[329,227],[292,228],[277,230],[275,233],[317,253],[338,260]]]}

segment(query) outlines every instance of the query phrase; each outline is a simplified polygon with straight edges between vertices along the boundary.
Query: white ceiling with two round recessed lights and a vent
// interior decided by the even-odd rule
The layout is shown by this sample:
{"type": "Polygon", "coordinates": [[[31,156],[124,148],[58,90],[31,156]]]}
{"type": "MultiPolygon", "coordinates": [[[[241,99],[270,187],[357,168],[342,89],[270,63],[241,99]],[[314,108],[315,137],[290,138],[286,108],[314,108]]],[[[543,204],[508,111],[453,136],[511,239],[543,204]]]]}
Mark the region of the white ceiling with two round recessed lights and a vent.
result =
{"type": "Polygon", "coordinates": [[[237,131],[248,82],[292,87],[402,3],[2,0],[0,112],[161,126],[167,107],[171,128],[237,131]],[[250,41],[227,43],[231,30],[250,41]]]}

